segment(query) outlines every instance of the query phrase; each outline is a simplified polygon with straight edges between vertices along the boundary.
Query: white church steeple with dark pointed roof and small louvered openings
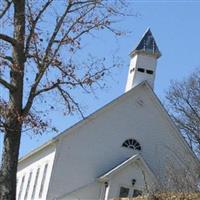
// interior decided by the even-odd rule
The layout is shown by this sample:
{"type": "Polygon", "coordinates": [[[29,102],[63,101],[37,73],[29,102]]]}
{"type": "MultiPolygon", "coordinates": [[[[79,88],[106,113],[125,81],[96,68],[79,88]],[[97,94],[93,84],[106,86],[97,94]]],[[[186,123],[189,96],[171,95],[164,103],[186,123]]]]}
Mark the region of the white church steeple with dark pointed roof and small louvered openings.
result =
{"type": "Polygon", "coordinates": [[[157,59],[161,56],[150,29],[144,33],[137,47],[130,53],[130,66],[125,92],[143,81],[154,88],[157,59]]]}

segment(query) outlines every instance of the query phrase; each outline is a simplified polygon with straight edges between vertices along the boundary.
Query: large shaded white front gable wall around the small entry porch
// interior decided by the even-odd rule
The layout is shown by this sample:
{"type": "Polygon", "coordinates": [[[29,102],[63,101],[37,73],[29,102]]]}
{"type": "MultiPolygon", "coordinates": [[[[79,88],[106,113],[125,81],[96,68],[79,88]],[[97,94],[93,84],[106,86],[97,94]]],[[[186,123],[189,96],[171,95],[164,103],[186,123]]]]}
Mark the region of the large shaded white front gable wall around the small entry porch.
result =
{"type": "Polygon", "coordinates": [[[122,147],[130,138],[140,143],[155,174],[163,174],[169,160],[177,165],[195,162],[151,93],[146,83],[140,84],[58,137],[52,183],[61,187],[50,187],[52,198],[95,181],[132,156],[135,151],[122,147]]]}

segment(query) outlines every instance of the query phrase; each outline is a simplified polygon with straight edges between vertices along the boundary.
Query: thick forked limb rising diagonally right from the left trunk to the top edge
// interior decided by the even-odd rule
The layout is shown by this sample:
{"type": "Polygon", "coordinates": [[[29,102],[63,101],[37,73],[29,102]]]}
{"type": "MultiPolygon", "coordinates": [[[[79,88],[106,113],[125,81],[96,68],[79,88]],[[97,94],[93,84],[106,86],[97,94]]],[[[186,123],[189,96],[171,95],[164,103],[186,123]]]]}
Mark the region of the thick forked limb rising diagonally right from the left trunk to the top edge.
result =
{"type": "MultiPolygon", "coordinates": [[[[43,54],[43,58],[42,60],[40,59],[38,65],[39,65],[39,71],[35,76],[35,82],[33,83],[30,93],[29,93],[29,97],[27,100],[27,103],[23,109],[24,114],[26,115],[33,103],[34,97],[36,96],[36,94],[38,95],[37,92],[37,87],[41,81],[41,79],[43,78],[43,75],[45,74],[47,68],[51,65],[52,61],[54,60],[55,56],[57,55],[57,52],[60,50],[60,47],[63,45],[63,42],[65,42],[65,39],[68,38],[68,34],[69,32],[73,29],[73,27],[77,24],[80,23],[79,19],[85,17],[88,13],[90,13],[92,10],[94,10],[95,6],[98,3],[95,3],[95,1],[93,2],[92,0],[88,0],[88,1],[82,1],[79,2],[81,4],[87,4],[87,5],[93,5],[91,8],[87,8],[86,10],[84,10],[84,12],[80,12],[80,15],[76,21],[74,23],[72,23],[69,27],[68,30],[66,30],[64,37],[62,37],[60,40],[56,40],[56,37],[58,36],[60,29],[64,23],[64,20],[66,19],[66,16],[68,15],[68,13],[71,11],[70,9],[76,4],[76,2],[73,1],[69,1],[67,7],[65,8],[63,14],[61,15],[61,17],[58,19],[55,28],[51,34],[51,37],[47,43],[47,47],[44,50],[44,54],[43,54]],[[52,51],[52,46],[55,44],[55,41],[57,41],[56,43],[58,43],[57,48],[54,49],[54,51],[52,51]]],[[[83,5],[82,5],[83,6],[83,5]]],[[[81,7],[82,8],[82,7],[81,7]]],[[[73,8],[72,8],[73,9],[73,8]]],[[[90,18],[90,16],[88,16],[90,18]]],[[[105,17],[105,16],[104,16],[105,17]]],[[[81,22],[81,23],[85,23],[88,25],[86,26],[86,28],[82,28],[83,30],[80,31],[79,33],[77,33],[74,37],[72,37],[72,40],[75,41],[77,40],[79,37],[81,37],[84,33],[88,33],[90,32],[92,29],[94,28],[98,28],[100,26],[104,26],[104,18],[99,20],[99,22],[97,23],[96,21],[90,21],[90,22],[81,22]]],[[[96,19],[96,18],[95,18],[96,19]]],[[[36,56],[37,57],[37,56],[36,56]]],[[[79,83],[79,85],[81,85],[82,82],[79,83]]],[[[53,86],[52,86],[53,87],[53,86]]],[[[46,89],[47,90],[47,89],[46,89]]],[[[45,92],[46,90],[42,91],[45,92]]],[[[50,88],[48,89],[50,90],[50,88]]]]}

